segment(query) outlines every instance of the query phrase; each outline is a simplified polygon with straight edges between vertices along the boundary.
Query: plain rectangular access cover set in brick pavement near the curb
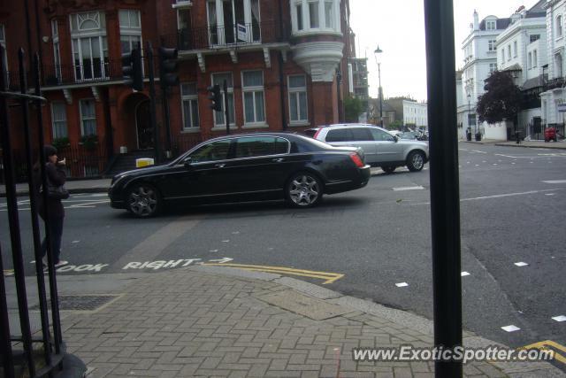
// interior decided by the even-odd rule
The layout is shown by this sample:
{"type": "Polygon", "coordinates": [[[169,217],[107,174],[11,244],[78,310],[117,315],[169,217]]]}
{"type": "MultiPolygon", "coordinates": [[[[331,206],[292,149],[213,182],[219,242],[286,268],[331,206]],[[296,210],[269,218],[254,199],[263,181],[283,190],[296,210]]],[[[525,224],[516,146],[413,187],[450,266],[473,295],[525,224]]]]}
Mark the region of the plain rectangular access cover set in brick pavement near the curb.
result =
{"type": "Polygon", "coordinates": [[[333,305],[322,299],[307,297],[294,290],[283,290],[258,298],[270,305],[276,305],[314,320],[330,319],[352,312],[352,310],[340,305],[333,305]]]}

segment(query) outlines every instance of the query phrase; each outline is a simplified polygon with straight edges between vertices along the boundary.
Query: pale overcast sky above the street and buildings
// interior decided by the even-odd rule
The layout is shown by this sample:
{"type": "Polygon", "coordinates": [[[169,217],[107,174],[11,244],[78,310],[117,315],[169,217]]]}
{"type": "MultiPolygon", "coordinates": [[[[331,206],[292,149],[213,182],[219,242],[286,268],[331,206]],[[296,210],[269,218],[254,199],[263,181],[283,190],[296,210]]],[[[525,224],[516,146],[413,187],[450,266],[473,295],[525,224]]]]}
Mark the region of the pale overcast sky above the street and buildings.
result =
{"type": "MultiPolygon", "coordinates": [[[[456,68],[463,66],[462,42],[470,34],[474,9],[479,20],[489,15],[509,17],[521,5],[537,0],[454,0],[456,68]]],[[[350,24],[356,33],[356,54],[368,58],[370,96],[378,96],[378,66],[373,51],[379,45],[384,97],[426,99],[424,0],[350,0],[350,24]]]]}

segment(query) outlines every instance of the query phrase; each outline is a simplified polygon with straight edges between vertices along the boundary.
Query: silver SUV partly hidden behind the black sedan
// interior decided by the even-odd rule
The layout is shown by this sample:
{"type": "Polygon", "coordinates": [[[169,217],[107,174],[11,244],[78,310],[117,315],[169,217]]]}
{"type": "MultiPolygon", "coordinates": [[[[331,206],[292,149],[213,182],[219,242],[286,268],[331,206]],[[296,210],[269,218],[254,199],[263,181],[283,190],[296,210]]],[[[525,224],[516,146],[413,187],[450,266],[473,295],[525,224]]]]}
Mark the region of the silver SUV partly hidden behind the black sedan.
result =
{"type": "Polygon", "coordinates": [[[401,140],[386,129],[365,124],[340,124],[314,127],[306,135],[334,146],[363,148],[365,161],[392,173],[397,166],[407,166],[417,172],[428,162],[428,144],[416,140],[401,140]]]}

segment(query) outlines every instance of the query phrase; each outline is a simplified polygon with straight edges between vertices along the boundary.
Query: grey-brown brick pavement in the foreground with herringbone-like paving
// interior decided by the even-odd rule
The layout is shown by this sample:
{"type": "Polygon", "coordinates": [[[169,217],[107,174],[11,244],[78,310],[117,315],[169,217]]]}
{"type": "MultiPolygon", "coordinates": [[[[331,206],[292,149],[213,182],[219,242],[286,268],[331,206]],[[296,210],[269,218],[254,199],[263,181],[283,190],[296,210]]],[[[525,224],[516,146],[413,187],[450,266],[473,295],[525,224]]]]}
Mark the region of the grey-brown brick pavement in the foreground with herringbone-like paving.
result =
{"type": "MultiPolygon", "coordinates": [[[[352,359],[355,347],[431,346],[432,336],[407,320],[360,311],[340,294],[306,282],[234,272],[203,266],[144,274],[96,312],[65,312],[67,351],[85,362],[89,377],[433,376],[431,362],[352,359]],[[301,290],[347,311],[312,320],[260,299],[301,290]]],[[[549,364],[512,367],[517,373],[509,376],[561,376],[549,364]]],[[[508,376],[486,362],[466,364],[464,375],[508,376]]]]}

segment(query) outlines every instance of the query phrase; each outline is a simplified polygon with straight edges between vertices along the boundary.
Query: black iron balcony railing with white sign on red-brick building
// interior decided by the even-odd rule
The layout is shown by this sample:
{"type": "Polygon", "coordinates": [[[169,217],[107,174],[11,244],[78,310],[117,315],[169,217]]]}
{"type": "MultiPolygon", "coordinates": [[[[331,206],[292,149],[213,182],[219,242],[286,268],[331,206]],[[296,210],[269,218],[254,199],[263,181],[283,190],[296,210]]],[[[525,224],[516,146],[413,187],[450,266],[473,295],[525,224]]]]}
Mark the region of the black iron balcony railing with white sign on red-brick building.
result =
{"type": "Polygon", "coordinates": [[[253,24],[237,24],[233,27],[195,27],[180,29],[174,35],[163,35],[161,42],[179,50],[207,50],[221,47],[284,42],[287,31],[281,32],[279,23],[264,21],[253,24]]]}

